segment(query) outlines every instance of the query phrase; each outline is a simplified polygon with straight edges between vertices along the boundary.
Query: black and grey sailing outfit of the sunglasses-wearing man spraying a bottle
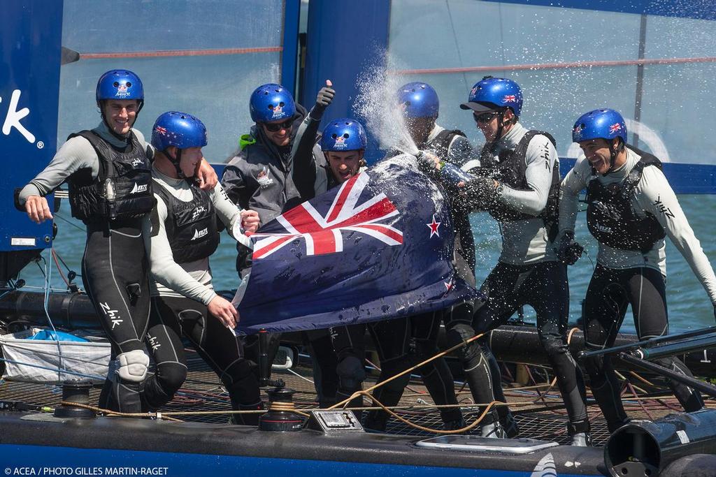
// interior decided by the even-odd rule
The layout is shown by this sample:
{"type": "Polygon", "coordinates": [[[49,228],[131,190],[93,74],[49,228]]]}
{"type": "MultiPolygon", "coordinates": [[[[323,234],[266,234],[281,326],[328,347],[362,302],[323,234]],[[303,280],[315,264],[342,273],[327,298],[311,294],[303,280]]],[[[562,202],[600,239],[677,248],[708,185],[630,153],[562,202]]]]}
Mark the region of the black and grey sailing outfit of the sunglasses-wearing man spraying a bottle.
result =
{"type": "MultiPolygon", "coordinates": [[[[454,315],[446,323],[448,344],[457,344],[475,333],[488,333],[506,323],[522,305],[531,305],[569,413],[570,434],[587,432],[584,380],[566,345],[566,266],[556,260],[552,248],[559,185],[556,149],[548,134],[528,132],[517,123],[497,143],[485,146],[481,162],[475,172],[498,180],[503,187],[502,192],[495,191],[497,197],[486,207],[473,205],[488,210],[500,222],[503,250],[498,265],[480,288],[486,300],[474,318],[454,315]]],[[[472,202],[470,197],[466,200],[472,202]]],[[[504,401],[500,370],[487,340],[479,345],[470,343],[459,354],[473,399],[480,403],[504,401]]],[[[505,406],[497,408],[503,413],[500,421],[506,420],[506,411],[505,406]]],[[[490,422],[488,415],[485,423],[490,422]]]]}

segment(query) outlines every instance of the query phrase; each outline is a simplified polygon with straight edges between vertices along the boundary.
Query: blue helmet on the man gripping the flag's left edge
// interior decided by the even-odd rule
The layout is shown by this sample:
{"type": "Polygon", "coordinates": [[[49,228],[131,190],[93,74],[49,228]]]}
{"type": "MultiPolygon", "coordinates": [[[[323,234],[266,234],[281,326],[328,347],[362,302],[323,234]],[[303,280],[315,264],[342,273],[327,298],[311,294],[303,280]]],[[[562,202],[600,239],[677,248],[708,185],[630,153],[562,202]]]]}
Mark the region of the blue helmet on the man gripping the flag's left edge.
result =
{"type": "Polygon", "coordinates": [[[178,149],[204,147],[206,127],[198,117],[184,112],[168,111],[160,114],[152,128],[152,145],[158,151],[170,146],[178,149]]]}

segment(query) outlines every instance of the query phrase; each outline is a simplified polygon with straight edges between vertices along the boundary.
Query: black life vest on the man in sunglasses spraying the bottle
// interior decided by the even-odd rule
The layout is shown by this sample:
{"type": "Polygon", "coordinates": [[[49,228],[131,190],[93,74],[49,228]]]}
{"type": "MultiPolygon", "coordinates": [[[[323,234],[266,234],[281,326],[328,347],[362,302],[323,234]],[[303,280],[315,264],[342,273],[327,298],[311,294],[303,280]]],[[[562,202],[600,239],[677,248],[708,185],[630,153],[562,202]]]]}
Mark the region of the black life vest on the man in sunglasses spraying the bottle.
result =
{"type": "MultiPolygon", "coordinates": [[[[527,155],[527,147],[530,141],[537,134],[546,136],[552,144],[556,147],[557,142],[548,132],[531,130],[520,139],[515,149],[503,149],[498,155],[498,160],[495,161],[494,154],[490,150],[489,144],[483,147],[483,152],[480,157],[480,168],[485,171],[488,177],[504,184],[511,189],[516,190],[530,190],[527,184],[527,178],[525,172],[527,170],[527,164],[525,163],[525,157],[527,155]]],[[[545,151],[546,157],[545,162],[548,162],[548,151],[545,151]]],[[[549,187],[549,193],[547,195],[547,205],[540,215],[547,228],[548,238],[553,241],[558,232],[558,217],[559,217],[559,185],[561,179],[559,177],[559,166],[558,163],[552,167],[552,183],[549,187]]],[[[534,215],[525,214],[518,212],[507,205],[495,203],[488,209],[490,215],[495,220],[500,222],[513,222],[515,220],[527,220],[533,219],[534,215]]]]}

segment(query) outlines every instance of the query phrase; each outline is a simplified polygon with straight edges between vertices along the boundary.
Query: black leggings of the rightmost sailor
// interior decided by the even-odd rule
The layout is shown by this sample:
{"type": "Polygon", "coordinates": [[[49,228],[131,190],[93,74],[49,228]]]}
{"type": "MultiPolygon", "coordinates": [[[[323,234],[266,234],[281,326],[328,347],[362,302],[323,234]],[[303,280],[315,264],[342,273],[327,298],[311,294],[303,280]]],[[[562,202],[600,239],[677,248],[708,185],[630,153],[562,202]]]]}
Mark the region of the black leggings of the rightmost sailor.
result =
{"type": "MultiPolygon", "coordinates": [[[[649,267],[616,270],[597,265],[584,300],[584,323],[588,350],[610,348],[632,305],[634,325],[639,340],[669,334],[666,284],[659,272],[649,267]]],[[[654,363],[691,376],[678,358],[662,358],[654,363]]],[[[619,380],[609,356],[586,361],[592,393],[604,413],[610,431],[628,421],[619,395],[619,380]]],[[[669,381],[669,386],[685,410],[699,410],[704,403],[698,391],[687,385],[669,381]]]]}

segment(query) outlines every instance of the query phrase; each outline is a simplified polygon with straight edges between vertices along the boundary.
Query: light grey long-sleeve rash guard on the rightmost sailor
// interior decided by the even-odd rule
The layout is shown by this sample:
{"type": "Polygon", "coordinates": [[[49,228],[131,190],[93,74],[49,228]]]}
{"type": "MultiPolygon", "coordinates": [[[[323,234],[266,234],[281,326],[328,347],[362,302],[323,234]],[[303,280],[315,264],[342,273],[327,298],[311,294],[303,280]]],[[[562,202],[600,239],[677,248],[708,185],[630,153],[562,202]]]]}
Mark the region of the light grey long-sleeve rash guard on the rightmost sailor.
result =
{"type": "MultiPolygon", "coordinates": [[[[622,182],[632,171],[641,157],[631,149],[627,149],[627,162],[619,169],[603,176],[597,174],[596,179],[604,185],[622,182]]],[[[577,214],[579,192],[586,188],[591,180],[591,164],[584,156],[577,159],[569,174],[564,177],[560,187],[559,230],[560,235],[566,230],[574,231],[577,214]]],[[[689,263],[701,285],[706,290],[712,303],[716,304],[716,276],[706,257],[701,243],[694,235],[689,221],[679,205],[676,194],[658,167],[644,167],[642,179],[634,189],[632,199],[634,212],[644,217],[645,212],[656,217],[664,227],[667,236],[674,242],[684,259],[689,263]]],[[[652,250],[646,254],[636,250],[620,250],[599,243],[599,255],[596,261],[609,268],[651,267],[662,272],[666,277],[666,244],[659,240],[652,250]]]]}

